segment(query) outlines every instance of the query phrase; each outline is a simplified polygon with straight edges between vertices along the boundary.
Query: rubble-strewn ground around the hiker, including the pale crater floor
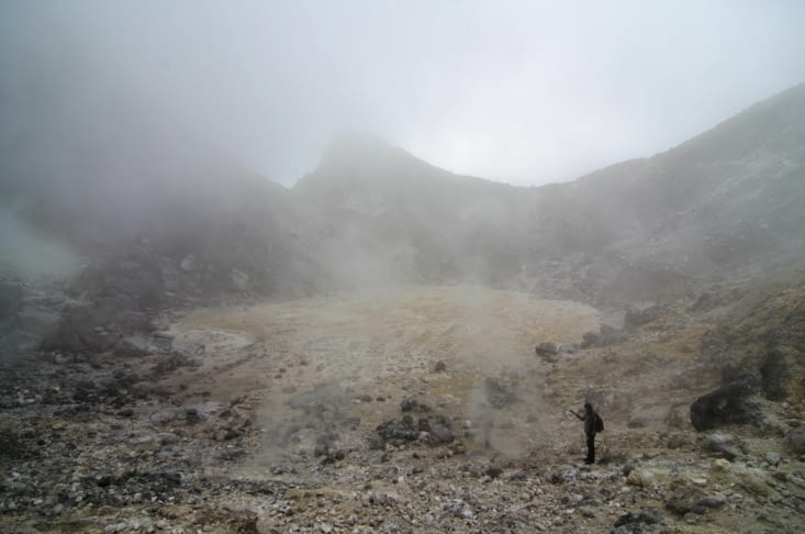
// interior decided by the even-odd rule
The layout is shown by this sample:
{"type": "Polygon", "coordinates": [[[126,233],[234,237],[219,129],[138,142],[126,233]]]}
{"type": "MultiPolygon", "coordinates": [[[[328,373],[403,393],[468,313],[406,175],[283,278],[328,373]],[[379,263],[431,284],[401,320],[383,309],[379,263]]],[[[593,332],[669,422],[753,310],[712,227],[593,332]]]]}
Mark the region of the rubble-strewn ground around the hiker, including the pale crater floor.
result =
{"type": "Polygon", "coordinates": [[[695,433],[713,379],[690,304],[589,346],[588,305],[415,286],[198,309],[137,358],[43,353],[3,368],[0,526],[797,532],[802,407],[695,433]],[[584,400],[606,422],[593,466],[584,400]]]}

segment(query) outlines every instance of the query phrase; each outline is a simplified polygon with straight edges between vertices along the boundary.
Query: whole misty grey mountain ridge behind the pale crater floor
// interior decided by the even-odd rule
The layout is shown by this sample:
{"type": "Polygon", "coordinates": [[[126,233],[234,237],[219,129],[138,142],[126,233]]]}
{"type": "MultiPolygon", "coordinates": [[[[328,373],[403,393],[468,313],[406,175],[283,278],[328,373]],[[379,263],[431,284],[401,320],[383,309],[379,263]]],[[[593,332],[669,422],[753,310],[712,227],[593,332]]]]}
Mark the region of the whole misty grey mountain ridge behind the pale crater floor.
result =
{"type": "MultiPolygon", "coordinates": [[[[653,157],[532,188],[459,176],[366,133],[337,135],[290,190],[234,165],[201,165],[208,154],[180,165],[153,145],[171,149],[137,145],[149,165],[127,169],[125,189],[109,187],[124,159],[111,153],[104,165],[59,160],[59,176],[79,174],[86,186],[71,196],[27,188],[30,177],[5,163],[3,192],[30,194],[42,209],[23,215],[66,241],[91,235],[88,253],[137,236],[170,262],[205,257],[217,278],[243,272],[278,293],[373,279],[628,301],[805,262],[805,85],[653,157]],[[121,214],[125,232],[110,232],[121,214]]],[[[182,144],[177,154],[194,152],[182,144]]]]}

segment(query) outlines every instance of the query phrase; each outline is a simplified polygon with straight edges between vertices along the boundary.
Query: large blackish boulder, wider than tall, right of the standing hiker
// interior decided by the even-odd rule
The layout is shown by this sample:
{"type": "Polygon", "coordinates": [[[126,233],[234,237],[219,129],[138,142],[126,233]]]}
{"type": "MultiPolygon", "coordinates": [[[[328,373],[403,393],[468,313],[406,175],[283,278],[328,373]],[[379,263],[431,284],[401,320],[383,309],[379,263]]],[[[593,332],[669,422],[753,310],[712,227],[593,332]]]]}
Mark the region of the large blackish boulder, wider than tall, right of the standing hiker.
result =
{"type": "Polygon", "coordinates": [[[701,432],[728,424],[757,423],[760,414],[751,397],[759,391],[759,380],[751,375],[745,375],[703,394],[691,404],[693,427],[701,432]]]}

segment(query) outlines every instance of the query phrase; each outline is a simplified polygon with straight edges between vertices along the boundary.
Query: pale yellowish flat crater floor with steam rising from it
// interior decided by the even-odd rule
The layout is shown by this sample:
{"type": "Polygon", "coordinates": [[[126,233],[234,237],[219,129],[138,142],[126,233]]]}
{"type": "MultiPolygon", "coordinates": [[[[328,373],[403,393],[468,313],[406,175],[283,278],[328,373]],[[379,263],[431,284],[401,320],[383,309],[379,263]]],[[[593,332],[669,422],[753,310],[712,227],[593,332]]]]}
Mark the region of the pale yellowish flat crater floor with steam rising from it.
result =
{"type": "Polygon", "coordinates": [[[596,310],[577,302],[481,287],[204,309],[175,325],[177,340],[205,347],[203,364],[175,379],[192,385],[188,396],[260,404],[250,472],[310,454],[324,430],[357,447],[406,398],[466,421],[476,445],[516,456],[546,435],[534,346],[578,343],[597,325],[596,310]],[[505,410],[490,405],[488,378],[514,393],[505,410]]]}

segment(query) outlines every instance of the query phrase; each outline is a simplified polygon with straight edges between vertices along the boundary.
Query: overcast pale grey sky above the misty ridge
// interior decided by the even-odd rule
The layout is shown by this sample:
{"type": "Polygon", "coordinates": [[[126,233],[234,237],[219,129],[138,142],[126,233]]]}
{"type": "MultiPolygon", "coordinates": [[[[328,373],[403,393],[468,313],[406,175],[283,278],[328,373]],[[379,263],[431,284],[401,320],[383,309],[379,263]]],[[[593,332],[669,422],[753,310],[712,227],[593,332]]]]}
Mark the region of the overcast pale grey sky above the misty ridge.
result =
{"type": "Polygon", "coordinates": [[[805,81],[804,30],[800,0],[5,0],[0,112],[53,69],[48,98],[123,88],[286,185],[340,131],[541,185],[805,81]]]}

